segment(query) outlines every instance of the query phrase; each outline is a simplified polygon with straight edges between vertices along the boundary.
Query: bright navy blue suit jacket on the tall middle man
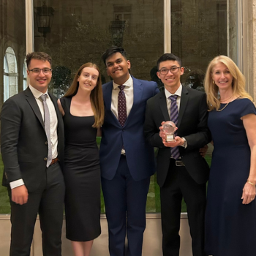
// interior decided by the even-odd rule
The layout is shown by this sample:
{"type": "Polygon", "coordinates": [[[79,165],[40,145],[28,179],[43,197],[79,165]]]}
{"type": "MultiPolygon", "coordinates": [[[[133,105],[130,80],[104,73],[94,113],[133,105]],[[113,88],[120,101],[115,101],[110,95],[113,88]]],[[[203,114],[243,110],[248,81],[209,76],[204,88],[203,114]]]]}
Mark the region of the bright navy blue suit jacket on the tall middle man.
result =
{"type": "Polygon", "coordinates": [[[102,126],[102,141],[99,158],[102,177],[111,180],[120,160],[121,148],[127,157],[129,172],[135,181],[151,176],[155,172],[154,148],[146,143],[143,134],[146,101],[159,92],[157,83],[133,78],[133,105],[124,127],[111,110],[113,82],[102,86],[105,119],[102,126]]]}

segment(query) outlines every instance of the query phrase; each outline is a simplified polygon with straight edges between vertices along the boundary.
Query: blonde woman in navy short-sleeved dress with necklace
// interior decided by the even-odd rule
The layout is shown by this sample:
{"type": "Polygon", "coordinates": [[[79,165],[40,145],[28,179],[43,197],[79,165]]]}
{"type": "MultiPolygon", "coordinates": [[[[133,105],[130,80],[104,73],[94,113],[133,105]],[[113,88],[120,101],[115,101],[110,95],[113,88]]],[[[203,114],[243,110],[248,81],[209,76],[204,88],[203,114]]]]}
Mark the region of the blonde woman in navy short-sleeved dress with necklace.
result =
{"type": "Polygon", "coordinates": [[[206,255],[255,256],[256,110],[227,56],[208,65],[205,89],[214,142],[206,206],[206,255]]]}

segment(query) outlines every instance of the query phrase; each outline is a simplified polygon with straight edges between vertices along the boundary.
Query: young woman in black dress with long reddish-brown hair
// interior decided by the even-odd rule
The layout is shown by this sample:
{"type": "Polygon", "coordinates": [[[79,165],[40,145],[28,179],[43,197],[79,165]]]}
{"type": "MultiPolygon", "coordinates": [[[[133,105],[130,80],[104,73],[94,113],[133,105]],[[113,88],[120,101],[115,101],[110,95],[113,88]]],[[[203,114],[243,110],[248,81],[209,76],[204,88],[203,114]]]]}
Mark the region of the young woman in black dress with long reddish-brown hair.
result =
{"type": "Polygon", "coordinates": [[[97,131],[103,124],[102,82],[96,64],[83,64],[58,101],[64,120],[67,238],[75,256],[88,256],[100,229],[97,131]]]}

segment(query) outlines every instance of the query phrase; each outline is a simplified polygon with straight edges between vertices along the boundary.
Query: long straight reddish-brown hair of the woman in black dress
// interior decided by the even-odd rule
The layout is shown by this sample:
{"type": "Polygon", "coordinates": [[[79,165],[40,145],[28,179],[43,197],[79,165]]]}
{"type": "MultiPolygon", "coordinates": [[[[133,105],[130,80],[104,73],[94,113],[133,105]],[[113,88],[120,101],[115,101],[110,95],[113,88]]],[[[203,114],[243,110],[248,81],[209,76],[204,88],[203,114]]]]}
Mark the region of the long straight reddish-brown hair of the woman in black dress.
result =
{"type": "Polygon", "coordinates": [[[91,94],[90,94],[91,108],[94,111],[94,118],[95,118],[95,121],[92,127],[99,128],[102,126],[104,121],[104,102],[103,102],[103,93],[102,93],[102,78],[101,78],[101,74],[97,64],[94,64],[91,62],[83,64],[78,69],[78,72],[76,72],[75,78],[72,81],[72,84],[67,90],[64,97],[73,97],[75,94],[78,93],[78,87],[79,87],[78,78],[80,77],[80,74],[85,67],[93,67],[94,69],[97,69],[99,72],[97,86],[95,86],[95,88],[91,91],[91,94]]]}

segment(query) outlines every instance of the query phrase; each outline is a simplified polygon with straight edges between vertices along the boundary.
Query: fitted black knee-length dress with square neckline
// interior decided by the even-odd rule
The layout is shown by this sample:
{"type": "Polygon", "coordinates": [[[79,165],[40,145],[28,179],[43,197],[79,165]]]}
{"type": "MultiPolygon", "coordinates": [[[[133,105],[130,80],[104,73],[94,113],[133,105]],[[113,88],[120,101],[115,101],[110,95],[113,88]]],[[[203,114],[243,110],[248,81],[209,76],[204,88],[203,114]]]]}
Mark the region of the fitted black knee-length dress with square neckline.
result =
{"type": "Polygon", "coordinates": [[[94,116],[72,116],[71,97],[61,98],[64,109],[67,238],[90,241],[100,235],[100,169],[94,116]]]}

